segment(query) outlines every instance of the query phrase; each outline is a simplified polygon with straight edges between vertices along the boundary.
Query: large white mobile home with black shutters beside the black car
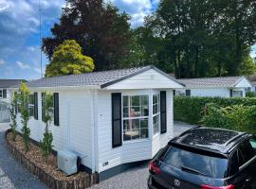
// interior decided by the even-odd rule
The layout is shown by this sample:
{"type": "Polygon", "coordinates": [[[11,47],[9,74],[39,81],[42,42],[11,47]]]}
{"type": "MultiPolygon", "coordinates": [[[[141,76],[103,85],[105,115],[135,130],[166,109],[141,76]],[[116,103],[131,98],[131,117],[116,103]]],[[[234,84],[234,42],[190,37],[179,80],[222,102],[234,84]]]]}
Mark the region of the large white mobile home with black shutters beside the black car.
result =
{"type": "Polygon", "coordinates": [[[145,66],[46,77],[27,82],[27,87],[31,139],[42,140],[42,95],[52,93],[54,150],[74,151],[84,169],[104,180],[131,163],[152,159],[173,138],[173,90],[183,85],[145,66]]]}

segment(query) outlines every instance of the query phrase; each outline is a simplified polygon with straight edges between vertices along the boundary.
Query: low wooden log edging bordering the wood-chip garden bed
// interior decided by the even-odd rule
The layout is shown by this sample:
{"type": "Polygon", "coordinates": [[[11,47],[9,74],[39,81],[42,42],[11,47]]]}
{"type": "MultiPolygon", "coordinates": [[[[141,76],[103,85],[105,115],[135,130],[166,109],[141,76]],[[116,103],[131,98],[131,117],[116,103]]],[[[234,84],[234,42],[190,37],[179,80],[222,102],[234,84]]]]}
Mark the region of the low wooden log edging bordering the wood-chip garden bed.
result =
{"type": "Polygon", "coordinates": [[[52,176],[46,173],[41,167],[38,167],[35,163],[30,162],[15,146],[11,146],[7,135],[9,134],[10,129],[5,133],[6,144],[13,155],[13,157],[20,163],[22,163],[27,170],[35,175],[39,180],[44,182],[46,186],[52,189],[83,189],[92,186],[99,182],[99,174],[88,174],[86,177],[83,177],[79,180],[56,180],[52,176]]]}

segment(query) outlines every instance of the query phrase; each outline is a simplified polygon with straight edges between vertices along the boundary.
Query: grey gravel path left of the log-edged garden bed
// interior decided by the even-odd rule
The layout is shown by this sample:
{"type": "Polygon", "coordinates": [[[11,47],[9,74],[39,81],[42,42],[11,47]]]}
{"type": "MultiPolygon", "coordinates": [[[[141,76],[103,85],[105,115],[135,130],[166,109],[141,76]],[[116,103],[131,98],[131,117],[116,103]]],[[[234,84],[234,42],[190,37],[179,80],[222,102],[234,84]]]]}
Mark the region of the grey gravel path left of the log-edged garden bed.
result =
{"type": "Polygon", "coordinates": [[[46,189],[46,185],[16,162],[5,144],[8,124],[0,123],[0,189],[46,189]]]}

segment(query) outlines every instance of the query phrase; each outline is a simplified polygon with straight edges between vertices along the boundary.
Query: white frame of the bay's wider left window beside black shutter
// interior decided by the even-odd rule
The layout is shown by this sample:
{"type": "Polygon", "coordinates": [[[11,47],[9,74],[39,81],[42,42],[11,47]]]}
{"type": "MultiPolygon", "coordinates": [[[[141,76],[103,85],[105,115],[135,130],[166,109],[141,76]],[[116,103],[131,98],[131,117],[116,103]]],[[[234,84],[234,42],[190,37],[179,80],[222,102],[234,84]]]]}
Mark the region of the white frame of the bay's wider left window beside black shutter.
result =
{"type": "MultiPolygon", "coordinates": [[[[122,96],[121,96],[121,126],[122,126],[122,142],[123,143],[133,143],[133,142],[137,142],[137,141],[139,141],[139,140],[149,140],[151,137],[150,137],[150,96],[151,96],[151,94],[122,94],[122,96]],[[148,115],[147,116],[135,116],[135,117],[124,117],[123,116],[123,98],[124,98],[124,96],[128,96],[128,111],[129,111],[129,109],[130,109],[130,97],[132,97],[132,96],[139,96],[139,97],[141,97],[141,96],[147,96],[148,97],[148,115]],[[147,137],[144,137],[144,138],[141,138],[141,137],[139,137],[139,138],[135,138],[135,139],[130,139],[130,140],[124,140],[124,124],[123,124],[123,122],[125,121],[125,120],[142,120],[142,119],[147,119],[147,121],[148,121],[148,125],[147,125],[147,129],[148,129],[148,133],[147,133],[147,137]]],[[[139,104],[139,107],[141,107],[140,106],[141,104],[139,104]]],[[[139,126],[139,129],[138,129],[138,131],[140,132],[140,126],[139,126]]],[[[146,128],[142,128],[142,129],[146,129],[146,128]]],[[[126,130],[127,131],[127,130],[126,130]]],[[[140,135],[140,134],[139,134],[140,135]]]]}

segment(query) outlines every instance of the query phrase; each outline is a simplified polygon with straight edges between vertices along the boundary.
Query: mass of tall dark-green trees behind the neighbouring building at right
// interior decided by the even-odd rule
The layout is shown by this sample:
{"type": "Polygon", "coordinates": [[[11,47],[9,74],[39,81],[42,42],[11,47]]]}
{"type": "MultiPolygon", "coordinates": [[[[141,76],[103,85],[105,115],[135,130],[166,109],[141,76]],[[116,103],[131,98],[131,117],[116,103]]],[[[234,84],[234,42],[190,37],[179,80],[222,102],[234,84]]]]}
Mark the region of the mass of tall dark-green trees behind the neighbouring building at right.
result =
{"type": "Polygon", "coordinates": [[[159,65],[176,77],[235,76],[250,69],[244,61],[256,43],[255,18],[252,0],[161,0],[144,26],[161,47],[142,46],[153,46],[159,65]]]}

